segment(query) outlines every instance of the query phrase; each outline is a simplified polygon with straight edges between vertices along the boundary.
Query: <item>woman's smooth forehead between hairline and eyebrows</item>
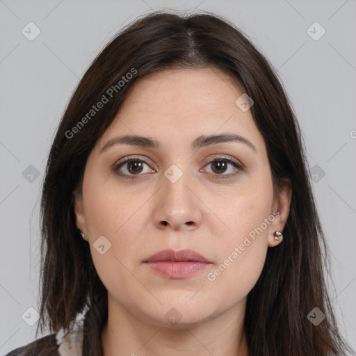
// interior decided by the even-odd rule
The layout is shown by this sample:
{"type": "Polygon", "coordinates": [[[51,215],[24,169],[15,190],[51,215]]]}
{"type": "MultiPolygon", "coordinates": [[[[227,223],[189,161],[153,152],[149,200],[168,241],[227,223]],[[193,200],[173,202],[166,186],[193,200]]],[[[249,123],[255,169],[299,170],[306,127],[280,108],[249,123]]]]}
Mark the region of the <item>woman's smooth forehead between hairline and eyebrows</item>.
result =
{"type": "Polygon", "coordinates": [[[177,144],[229,131],[254,140],[258,148],[263,138],[250,111],[235,104],[242,94],[236,81],[216,68],[154,72],[131,88],[100,144],[118,134],[177,144]]]}

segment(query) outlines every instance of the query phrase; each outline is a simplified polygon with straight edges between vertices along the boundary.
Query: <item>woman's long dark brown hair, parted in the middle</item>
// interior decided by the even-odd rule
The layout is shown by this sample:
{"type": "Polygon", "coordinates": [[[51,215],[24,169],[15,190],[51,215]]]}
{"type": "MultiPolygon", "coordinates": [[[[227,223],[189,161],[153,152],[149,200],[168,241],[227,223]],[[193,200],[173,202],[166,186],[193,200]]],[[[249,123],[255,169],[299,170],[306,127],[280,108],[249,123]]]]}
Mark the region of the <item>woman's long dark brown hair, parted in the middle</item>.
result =
{"type": "MultiPolygon", "coordinates": [[[[41,224],[41,306],[38,331],[69,330],[85,315],[83,355],[102,355],[107,291],[90,248],[79,235],[73,193],[81,188],[86,160],[118,113],[129,89],[147,74],[184,67],[218,68],[232,76],[253,100],[254,122],[264,136],[274,192],[281,179],[293,188],[284,242],[268,248],[266,262],[248,294],[245,333],[251,356],[344,355],[323,271],[328,251],[312,195],[298,122],[280,80],[247,36],[211,13],[190,16],[155,12],[127,26],[95,58],[77,86],[59,124],[44,177],[41,224]],[[108,88],[136,70],[100,111],[75,130],[108,88]],[[73,131],[72,131],[73,132],[73,131]],[[318,326],[307,315],[318,307],[326,318],[318,326]],[[47,328],[47,329],[46,329],[47,328]]],[[[147,123],[149,124],[149,123],[147,123]]],[[[53,350],[53,348],[52,348],[53,350]]],[[[49,351],[43,355],[50,355],[49,351]]]]}

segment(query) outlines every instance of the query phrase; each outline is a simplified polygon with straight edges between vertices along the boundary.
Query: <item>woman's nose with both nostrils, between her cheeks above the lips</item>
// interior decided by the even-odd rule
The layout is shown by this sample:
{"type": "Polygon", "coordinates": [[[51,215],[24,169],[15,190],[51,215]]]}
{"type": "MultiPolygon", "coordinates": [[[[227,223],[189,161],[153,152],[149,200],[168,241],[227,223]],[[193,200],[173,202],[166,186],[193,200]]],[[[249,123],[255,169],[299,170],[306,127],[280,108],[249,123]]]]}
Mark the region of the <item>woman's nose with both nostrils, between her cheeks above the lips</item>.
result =
{"type": "Polygon", "coordinates": [[[161,181],[163,186],[155,196],[154,225],[177,231],[197,229],[202,223],[201,203],[188,173],[174,183],[165,176],[161,181]]]}

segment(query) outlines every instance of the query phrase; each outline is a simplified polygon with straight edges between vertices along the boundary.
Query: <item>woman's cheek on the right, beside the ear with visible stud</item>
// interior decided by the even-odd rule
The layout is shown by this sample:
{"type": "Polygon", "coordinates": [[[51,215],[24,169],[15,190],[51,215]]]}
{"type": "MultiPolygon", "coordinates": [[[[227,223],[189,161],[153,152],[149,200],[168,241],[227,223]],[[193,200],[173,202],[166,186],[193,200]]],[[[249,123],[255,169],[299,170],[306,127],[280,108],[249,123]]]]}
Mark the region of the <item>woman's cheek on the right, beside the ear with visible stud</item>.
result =
{"type": "Polygon", "coordinates": [[[236,194],[234,204],[226,209],[232,232],[221,238],[220,261],[207,279],[232,300],[246,296],[264,267],[269,227],[274,220],[270,216],[272,202],[272,183],[266,179],[236,194]]]}

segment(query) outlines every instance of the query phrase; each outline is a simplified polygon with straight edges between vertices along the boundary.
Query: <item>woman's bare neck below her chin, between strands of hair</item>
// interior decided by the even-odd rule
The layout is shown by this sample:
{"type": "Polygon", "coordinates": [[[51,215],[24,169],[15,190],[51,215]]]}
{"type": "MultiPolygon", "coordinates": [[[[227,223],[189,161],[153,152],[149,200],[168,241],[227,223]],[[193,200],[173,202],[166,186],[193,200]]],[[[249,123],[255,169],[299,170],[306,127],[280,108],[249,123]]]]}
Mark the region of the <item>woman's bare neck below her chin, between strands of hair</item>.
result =
{"type": "Polygon", "coordinates": [[[147,323],[108,295],[102,330],[103,356],[248,356],[243,328],[245,300],[204,323],[172,328],[147,323]]]}

